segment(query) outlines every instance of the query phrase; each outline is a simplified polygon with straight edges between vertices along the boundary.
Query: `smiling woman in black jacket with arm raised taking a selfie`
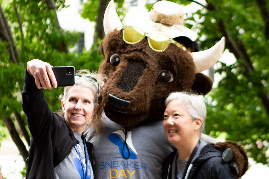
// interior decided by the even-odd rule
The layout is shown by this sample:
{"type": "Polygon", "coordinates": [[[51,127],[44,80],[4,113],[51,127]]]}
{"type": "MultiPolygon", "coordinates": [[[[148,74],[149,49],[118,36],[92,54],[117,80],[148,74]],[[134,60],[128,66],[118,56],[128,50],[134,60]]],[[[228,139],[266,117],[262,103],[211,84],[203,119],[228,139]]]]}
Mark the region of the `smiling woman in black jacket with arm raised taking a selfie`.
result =
{"type": "Polygon", "coordinates": [[[87,70],[76,74],[74,86],[64,89],[61,116],[49,109],[42,89],[57,86],[51,65],[36,59],[27,63],[22,91],[31,132],[27,179],[94,178],[92,144],[85,141],[83,131],[85,126],[100,124],[98,99],[105,81],[104,75],[87,70]]]}

